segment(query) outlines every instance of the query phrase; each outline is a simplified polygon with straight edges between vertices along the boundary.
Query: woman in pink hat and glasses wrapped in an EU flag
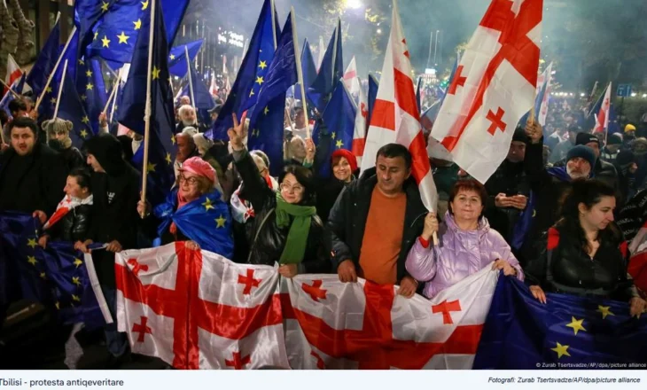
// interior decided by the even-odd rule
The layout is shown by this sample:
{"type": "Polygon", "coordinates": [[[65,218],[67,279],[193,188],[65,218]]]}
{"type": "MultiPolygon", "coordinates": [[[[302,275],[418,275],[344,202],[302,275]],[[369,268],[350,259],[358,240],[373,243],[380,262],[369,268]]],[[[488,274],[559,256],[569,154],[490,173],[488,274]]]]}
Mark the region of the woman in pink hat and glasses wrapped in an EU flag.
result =
{"type": "MultiPolygon", "coordinates": [[[[152,213],[155,222],[160,222],[157,235],[161,244],[188,240],[189,249],[203,248],[231,259],[231,216],[217,190],[214,168],[199,157],[191,157],[180,168],[176,184],[167,201],[152,213]]],[[[148,216],[149,209],[141,201],[137,204],[139,214],[148,216]]]]}

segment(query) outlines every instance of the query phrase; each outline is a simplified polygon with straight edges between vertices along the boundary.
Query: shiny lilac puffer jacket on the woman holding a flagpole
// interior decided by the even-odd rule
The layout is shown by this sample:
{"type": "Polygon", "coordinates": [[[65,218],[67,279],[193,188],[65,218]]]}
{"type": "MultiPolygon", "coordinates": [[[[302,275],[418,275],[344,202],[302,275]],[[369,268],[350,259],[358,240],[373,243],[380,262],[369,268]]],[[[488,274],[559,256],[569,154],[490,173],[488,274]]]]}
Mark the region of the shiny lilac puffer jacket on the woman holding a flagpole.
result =
{"type": "Polygon", "coordinates": [[[440,224],[438,239],[438,246],[429,243],[428,247],[417,239],[407,256],[409,274],[426,282],[423,293],[429,299],[499,259],[508,261],[517,269],[517,278],[524,280],[510,246],[501,234],[490,229],[487,218],[479,220],[477,230],[466,231],[458,228],[454,215],[448,212],[440,224]]]}

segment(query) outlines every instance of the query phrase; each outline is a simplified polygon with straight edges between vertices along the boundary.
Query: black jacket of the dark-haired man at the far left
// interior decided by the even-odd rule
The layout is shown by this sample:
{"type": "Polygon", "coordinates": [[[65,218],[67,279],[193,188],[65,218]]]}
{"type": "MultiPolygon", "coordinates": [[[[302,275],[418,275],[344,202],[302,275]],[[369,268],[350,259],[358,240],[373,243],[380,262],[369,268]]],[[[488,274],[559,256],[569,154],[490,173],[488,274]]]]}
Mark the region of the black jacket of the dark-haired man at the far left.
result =
{"type": "Polygon", "coordinates": [[[50,216],[65,195],[67,168],[57,152],[36,142],[28,156],[9,149],[0,156],[0,210],[50,216]]]}

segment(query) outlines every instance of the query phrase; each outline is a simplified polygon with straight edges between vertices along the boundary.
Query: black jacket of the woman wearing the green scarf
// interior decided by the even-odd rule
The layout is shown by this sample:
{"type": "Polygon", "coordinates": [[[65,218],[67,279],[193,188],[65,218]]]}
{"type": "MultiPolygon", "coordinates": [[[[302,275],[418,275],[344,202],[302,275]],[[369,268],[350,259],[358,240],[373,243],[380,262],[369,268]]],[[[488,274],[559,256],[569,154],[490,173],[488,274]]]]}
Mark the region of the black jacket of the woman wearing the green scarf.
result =
{"type": "MultiPolygon", "coordinates": [[[[246,199],[252,203],[255,214],[254,218],[246,222],[246,238],[251,252],[249,262],[273,265],[283,253],[290,227],[277,226],[277,214],[274,212],[277,207],[276,192],[272,191],[262,179],[249,152],[246,150],[235,152],[234,161],[245,183],[246,199]],[[267,220],[263,224],[266,217],[267,220]],[[256,238],[257,234],[258,238],[256,238]]],[[[317,274],[327,273],[330,270],[331,264],[323,247],[323,223],[318,216],[314,216],[310,224],[306,253],[299,264],[299,272],[317,274]]]]}

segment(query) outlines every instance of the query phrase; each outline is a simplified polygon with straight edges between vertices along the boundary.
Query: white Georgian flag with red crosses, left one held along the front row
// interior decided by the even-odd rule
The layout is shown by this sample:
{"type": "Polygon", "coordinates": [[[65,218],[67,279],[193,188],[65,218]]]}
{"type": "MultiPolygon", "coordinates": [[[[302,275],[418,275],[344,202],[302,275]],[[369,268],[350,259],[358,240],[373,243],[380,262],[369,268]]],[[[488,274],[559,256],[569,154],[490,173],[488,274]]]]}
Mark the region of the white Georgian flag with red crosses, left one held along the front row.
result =
{"type": "Polygon", "coordinates": [[[289,368],[276,267],[177,242],[115,256],[117,324],[176,369],[289,368]]]}

